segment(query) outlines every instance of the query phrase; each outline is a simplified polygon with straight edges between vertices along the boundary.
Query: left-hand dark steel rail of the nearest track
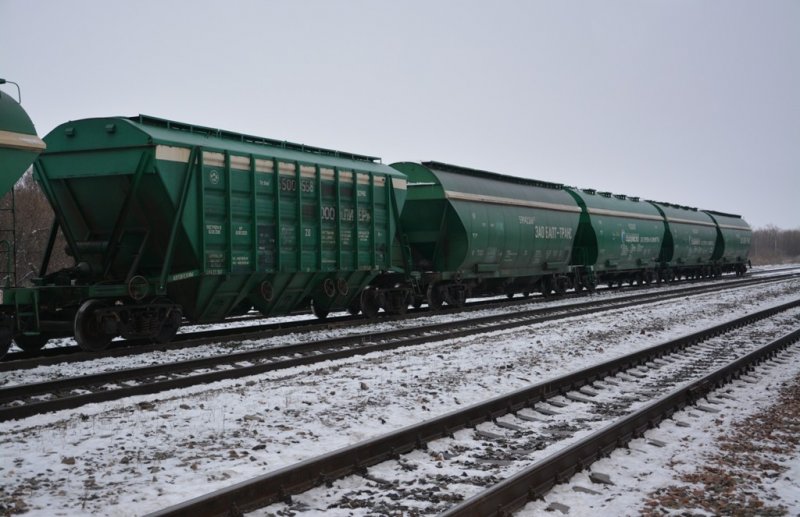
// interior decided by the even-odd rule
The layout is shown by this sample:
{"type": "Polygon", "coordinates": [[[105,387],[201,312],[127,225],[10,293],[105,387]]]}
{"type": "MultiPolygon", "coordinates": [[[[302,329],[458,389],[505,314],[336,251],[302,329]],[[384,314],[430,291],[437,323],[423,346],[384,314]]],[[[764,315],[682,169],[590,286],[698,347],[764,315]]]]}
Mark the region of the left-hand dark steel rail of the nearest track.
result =
{"type": "MultiPolygon", "coordinates": [[[[425,444],[430,441],[452,437],[453,433],[459,429],[474,427],[486,421],[495,421],[498,417],[533,407],[537,402],[555,395],[579,389],[604,377],[798,306],[800,306],[800,299],[748,314],[633,354],[537,383],[383,436],[284,467],[275,472],[154,512],[150,516],[225,516],[230,512],[250,511],[273,502],[286,500],[292,494],[304,492],[346,475],[364,472],[371,465],[397,458],[400,454],[417,448],[424,448],[425,444]]],[[[476,515],[480,515],[480,513],[476,515]]]]}

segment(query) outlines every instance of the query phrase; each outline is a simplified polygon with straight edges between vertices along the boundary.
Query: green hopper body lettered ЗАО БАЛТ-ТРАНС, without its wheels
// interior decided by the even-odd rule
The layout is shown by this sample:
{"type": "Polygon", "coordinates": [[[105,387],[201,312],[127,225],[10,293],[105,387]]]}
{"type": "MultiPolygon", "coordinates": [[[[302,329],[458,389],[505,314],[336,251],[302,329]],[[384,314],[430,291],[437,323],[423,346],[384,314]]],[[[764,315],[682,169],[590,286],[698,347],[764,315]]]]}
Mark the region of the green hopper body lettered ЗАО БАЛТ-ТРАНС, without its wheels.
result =
{"type": "Polygon", "coordinates": [[[417,268],[462,280],[568,271],[581,210],[562,185],[440,162],[392,167],[408,177],[401,227],[417,268]]]}

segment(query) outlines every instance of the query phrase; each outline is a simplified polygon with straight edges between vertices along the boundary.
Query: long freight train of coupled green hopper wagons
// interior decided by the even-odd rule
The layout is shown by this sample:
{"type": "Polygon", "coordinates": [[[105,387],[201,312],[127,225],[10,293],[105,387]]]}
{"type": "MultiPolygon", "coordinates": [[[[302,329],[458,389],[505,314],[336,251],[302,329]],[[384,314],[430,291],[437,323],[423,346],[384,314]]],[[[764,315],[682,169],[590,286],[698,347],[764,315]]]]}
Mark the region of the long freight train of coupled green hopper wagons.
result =
{"type": "MultiPolygon", "coordinates": [[[[167,342],[184,320],[251,308],[376,317],[746,271],[737,215],[143,115],[67,122],[44,144],[35,178],[55,220],[33,285],[2,288],[2,354],[167,342]],[[50,271],[59,231],[74,266],[50,271]]],[[[5,192],[22,172],[2,163],[5,192]]]]}

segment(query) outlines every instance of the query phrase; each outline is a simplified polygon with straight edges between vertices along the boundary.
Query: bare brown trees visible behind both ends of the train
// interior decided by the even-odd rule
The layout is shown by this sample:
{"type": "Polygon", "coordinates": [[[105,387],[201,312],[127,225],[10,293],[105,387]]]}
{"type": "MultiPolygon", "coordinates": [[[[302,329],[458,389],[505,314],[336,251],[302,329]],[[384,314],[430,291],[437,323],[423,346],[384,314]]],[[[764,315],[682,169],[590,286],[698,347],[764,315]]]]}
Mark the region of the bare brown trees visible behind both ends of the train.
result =
{"type": "MultiPolygon", "coordinates": [[[[8,192],[0,199],[0,282],[6,285],[30,285],[39,276],[50,228],[53,210],[39,185],[34,181],[32,169],[17,182],[13,194],[8,192]],[[14,217],[11,212],[16,210],[14,217]],[[12,231],[13,228],[13,231],[12,231]],[[16,263],[9,261],[14,256],[16,263]],[[16,272],[16,275],[14,274],[16,272]]],[[[775,225],[753,230],[750,261],[753,265],[800,263],[800,226],[782,229],[775,225]]],[[[48,271],[73,266],[66,253],[66,240],[59,231],[48,271]]]]}

